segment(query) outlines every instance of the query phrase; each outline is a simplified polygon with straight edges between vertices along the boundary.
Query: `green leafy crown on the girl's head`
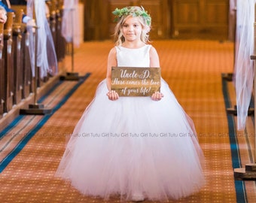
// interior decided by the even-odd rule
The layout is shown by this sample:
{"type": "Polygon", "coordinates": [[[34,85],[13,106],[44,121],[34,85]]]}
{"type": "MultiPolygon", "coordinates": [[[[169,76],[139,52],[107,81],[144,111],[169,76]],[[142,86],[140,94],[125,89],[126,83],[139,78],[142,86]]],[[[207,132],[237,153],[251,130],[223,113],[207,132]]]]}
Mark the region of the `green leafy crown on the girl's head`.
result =
{"type": "Polygon", "coordinates": [[[121,8],[118,9],[116,8],[112,14],[115,15],[114,17],[114,21],[117,22],[120,17],[123,16],[128,16],[128,15],[133,15],[133,17],[143,17],[143,19],[145,20],[145,22],[147,23],[148,26],[151,25],[151,16],[148,14],[148,11],[145,11],[143,7],[141,7],[142,10],[136,10],[134,11],[134,7],[125,7],[125,8],[121,8]]]}

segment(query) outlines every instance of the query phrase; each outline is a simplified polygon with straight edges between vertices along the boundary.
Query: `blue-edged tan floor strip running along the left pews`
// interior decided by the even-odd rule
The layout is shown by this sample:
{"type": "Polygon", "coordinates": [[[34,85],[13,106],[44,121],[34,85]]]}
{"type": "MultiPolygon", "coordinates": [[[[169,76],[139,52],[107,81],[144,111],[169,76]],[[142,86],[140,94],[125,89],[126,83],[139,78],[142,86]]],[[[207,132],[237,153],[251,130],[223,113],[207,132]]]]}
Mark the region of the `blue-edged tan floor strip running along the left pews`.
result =
{"type": "Polygon", "coordinates": [[[36,134],[38,130],[89,76],[90,74],[85,74],[78,81],[60,80],[47,95],[38,100],[38,103],[44,104],[45,108],[52,109],[51,114],[20,115],[0,132],[0,172],[20,153],[34,135],[41,136],[36,134]]]}

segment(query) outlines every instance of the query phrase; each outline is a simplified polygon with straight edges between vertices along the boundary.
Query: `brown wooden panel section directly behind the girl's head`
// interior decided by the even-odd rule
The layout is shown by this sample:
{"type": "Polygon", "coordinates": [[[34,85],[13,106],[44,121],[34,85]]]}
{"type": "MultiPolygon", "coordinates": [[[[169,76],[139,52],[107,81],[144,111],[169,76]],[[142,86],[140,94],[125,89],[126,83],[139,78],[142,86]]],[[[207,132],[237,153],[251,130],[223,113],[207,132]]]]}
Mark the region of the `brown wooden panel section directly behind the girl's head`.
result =
{"type": "Polygon", "coordinates": [[[84,1],[84,40],[104,40],[114,34],[115,8],[143,6],[152,17],[151,39],[169,38],[170,12],[168,0],[86,0],[84,1]]]}

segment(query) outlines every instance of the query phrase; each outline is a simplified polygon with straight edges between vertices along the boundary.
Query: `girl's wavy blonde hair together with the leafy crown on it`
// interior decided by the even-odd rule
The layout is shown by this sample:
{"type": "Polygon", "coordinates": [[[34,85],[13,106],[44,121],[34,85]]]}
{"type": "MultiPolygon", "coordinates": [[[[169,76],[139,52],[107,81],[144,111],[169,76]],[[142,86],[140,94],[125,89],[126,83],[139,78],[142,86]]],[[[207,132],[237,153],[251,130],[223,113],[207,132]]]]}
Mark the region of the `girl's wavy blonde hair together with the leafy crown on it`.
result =
{"type": "Polygon", "coordinates": [[[149,32],[151,30],[151,17],[147,14],[147,11],[144,8],[139,6],[126,7],[122,9],[117,9],[113,11],[115,14],[117,25],[114,28],[114,43],[116,46],[120,46],[125,41],[123,37],[122,28],[128,17],[138,17],[139,23],[142,24],[142,35],[140,36],[141,40],[144,43],[149,42],[149,32]]]}

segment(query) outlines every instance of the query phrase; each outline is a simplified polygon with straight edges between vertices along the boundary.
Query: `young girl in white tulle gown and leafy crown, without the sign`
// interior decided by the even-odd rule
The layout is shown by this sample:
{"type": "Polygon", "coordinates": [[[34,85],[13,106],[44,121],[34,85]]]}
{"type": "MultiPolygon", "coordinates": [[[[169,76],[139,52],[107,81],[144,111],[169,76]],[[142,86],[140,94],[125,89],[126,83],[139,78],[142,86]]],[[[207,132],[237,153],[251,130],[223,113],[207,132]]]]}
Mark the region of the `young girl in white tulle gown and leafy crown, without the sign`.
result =
{"type": "Polygon", "coordinates": [[[161,79],[151,97],[111,91],[111,67],[160,67],[148,42],[151,17],[143,8],[116,9],[117,44],[107,77],[96,90],[67,144],[56,174],[84,195],[168,201],[197,192],[203,153],[194,123],[161,79]],[[202,159],[201,159],[202,158],[202,159]]]}

